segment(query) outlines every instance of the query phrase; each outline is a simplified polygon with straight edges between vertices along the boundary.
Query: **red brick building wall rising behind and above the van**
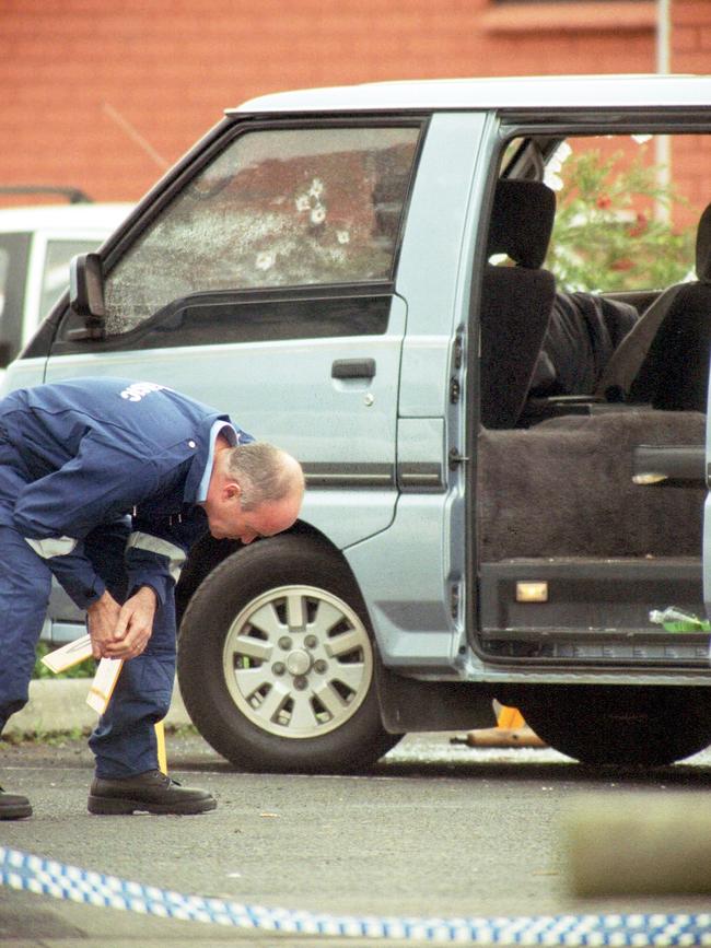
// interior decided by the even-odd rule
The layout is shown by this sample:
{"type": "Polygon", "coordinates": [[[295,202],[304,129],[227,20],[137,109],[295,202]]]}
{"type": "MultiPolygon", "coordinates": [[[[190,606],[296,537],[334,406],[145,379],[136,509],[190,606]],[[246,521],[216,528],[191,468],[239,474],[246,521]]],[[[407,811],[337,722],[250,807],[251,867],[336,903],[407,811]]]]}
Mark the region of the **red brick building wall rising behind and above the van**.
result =
{"type": "MultiPolygon", "coordinates": [[[[711,2],[672,2],[674,70],[711,71],[711,2]]],[[[225,106],[280,89],[650,72],[655,9],[655,0],[2,0],[0,184],[138,198],[225,106]]]]}

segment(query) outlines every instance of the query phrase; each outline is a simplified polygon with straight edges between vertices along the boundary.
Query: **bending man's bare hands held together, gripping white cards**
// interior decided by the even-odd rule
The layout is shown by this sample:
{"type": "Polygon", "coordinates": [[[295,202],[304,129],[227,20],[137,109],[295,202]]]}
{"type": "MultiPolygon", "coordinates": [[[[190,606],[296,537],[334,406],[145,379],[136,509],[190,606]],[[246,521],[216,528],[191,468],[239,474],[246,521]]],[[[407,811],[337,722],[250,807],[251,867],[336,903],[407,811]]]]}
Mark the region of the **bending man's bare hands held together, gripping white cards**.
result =
{"type": "Polygon", "coordinates": [[[155,593],[150,586],[141,586],[124,606],[104,593],[86,610],[94,658],[128,660],[140,655],[153,632],[155,606],[155,593]]]}

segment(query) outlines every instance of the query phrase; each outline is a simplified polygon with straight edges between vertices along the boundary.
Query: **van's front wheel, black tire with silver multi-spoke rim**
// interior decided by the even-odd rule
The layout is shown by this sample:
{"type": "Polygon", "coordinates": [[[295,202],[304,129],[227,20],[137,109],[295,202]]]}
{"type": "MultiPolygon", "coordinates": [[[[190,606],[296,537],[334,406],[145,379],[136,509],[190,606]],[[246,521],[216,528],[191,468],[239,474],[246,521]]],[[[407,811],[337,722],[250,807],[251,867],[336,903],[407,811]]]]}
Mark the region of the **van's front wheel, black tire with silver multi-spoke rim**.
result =
{"type": "Polygon", "coordinates": [[[381,723],[377,653],[360,594],[324,545],[285,535],[228,557],[180,625],[191,721],[235,766],[339,773],[400,738],[381,723]]]}

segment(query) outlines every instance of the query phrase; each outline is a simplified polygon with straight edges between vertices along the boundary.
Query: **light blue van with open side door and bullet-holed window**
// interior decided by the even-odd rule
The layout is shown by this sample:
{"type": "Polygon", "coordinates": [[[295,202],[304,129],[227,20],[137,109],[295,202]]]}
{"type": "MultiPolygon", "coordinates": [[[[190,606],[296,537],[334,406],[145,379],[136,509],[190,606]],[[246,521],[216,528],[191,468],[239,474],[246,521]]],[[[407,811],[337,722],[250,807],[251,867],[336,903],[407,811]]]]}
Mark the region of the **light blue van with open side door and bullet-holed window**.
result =
{"type": "MultiPolygon", "coordinates": [[[[235,765],[361,768],[493,699],[582,761],[711,742],[709,632],[650,619],[711,596],[711,219],[692,208],[674,276],[658,201],[580,177],[664,164],[684,189],[693,153],[711,79],[269,95],[75,261],[4,390],[166,384],[307,475],[291,531],[206,536],[178,585],[183,698],[235,765]]],[[[81,622],[57,595],[54,637],[81,622]]]]}

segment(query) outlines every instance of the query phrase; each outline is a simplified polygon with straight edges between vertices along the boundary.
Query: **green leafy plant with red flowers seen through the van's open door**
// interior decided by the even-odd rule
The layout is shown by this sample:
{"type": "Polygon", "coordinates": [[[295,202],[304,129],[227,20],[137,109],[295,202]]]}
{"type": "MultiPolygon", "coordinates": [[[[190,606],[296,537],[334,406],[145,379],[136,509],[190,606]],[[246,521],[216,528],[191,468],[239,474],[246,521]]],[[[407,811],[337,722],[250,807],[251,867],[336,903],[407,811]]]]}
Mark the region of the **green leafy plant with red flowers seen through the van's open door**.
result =
{"type": "Polygon", "coordinates": [[[562,188],[546,266],[567,290],[652,290],[684,280],[693,266],[693,229],[674,225],[684,203],[661,183],[644,149],[630,159],[599,150],[561,162],[562,188]],[[655,209],[664,213],[655,213],[655,209]]]}

